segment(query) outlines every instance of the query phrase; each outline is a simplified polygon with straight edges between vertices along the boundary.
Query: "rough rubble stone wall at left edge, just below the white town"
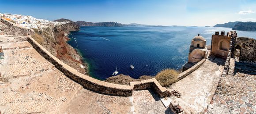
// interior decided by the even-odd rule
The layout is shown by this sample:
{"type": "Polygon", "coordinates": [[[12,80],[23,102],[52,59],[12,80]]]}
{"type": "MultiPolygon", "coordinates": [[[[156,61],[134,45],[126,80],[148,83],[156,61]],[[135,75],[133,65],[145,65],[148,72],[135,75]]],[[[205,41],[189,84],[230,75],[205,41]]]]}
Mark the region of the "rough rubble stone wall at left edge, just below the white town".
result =
{"type": "Polygon", "coordinates": [[[24,28],[22,26],[18,26],[10,21],[7,21],[5,19],[0,19],[0,23],[3,23],[4,25],[1,26],[2,32],[6,35],[12,35],[12,36],[28,36],[28,35],[34,35],[34,31],[24,28]]]}

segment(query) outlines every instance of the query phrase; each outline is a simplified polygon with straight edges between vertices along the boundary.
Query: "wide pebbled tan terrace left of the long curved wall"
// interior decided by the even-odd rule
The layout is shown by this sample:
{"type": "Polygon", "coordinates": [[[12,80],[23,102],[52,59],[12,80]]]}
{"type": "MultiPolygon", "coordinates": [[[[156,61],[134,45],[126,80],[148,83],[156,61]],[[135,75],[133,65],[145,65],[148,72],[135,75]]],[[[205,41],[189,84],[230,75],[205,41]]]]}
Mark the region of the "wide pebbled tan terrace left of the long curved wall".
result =
{"type": "Polygon", "coordinates": [[[2,42],[0,46],[5,53],[0,60],[0,113],[132,113],[130,97],[84,89],[45,60],[27,41],[2,42]]]}

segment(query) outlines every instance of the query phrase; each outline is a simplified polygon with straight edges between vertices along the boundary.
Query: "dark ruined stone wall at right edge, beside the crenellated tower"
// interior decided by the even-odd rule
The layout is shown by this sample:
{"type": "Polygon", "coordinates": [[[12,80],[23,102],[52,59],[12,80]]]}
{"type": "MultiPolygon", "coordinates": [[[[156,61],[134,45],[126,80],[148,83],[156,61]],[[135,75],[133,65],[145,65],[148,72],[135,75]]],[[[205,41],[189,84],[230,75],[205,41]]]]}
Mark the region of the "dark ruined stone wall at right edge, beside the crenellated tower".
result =
{"type": "Polygon", "coordinates": [[[237,37],[237,45],[241,46],[240,61],[256,62],[256,39],[237,37]]]}

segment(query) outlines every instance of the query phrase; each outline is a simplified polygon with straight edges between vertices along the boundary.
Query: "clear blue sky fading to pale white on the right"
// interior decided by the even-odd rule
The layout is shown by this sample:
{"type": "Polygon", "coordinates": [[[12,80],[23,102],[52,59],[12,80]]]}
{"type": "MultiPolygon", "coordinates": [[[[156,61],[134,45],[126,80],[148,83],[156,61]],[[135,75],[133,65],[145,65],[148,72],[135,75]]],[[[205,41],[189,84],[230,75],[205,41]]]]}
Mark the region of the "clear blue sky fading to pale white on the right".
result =
{"type": "Polygon", "coordinates": [[[0,0],[0,13],[50,21],[205,26],[256,21],[256,0],[0,0]]]}

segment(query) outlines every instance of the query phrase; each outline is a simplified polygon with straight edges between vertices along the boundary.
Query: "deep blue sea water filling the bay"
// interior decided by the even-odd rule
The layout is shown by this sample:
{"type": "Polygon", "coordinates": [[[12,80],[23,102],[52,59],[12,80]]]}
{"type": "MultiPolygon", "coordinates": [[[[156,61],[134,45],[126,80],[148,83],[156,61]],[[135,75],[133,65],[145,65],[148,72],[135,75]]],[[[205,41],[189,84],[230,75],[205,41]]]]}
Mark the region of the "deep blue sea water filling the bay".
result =
{"type": "MultiPolygon", "coordinates": [[[[119,74],[139,78],[156,75],[166,68],[182,68],[188,61],[191,39],[198,33],[210,45],[215,31],[230,30],[212,27],[81,27],[80,31],[71,32],[68,43],[82,54],[89,64],[89,75],[94,78],[110,77],[116,66],[119,74]],[[135,69],[131,70],[130,65],[135,69]]],[[[256,32],[247,31],[237,31],[237,34],[256,36],[256,32]]]]}

